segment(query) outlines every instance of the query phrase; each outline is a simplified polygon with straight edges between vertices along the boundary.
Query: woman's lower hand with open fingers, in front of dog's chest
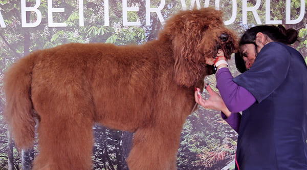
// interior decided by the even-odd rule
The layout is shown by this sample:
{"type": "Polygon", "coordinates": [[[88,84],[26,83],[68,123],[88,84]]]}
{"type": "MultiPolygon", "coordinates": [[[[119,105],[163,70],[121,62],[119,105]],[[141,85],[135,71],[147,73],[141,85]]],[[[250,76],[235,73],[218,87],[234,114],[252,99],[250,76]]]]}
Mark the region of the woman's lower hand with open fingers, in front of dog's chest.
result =
{"type": "Polygon", "coordinates": [[[196,103],[199,103],[200,105],[202,105],[202,107],[206,109],[222,111],[227,117],[229,117],[231,115],[231,112],[226,107],[222,97],[216,92],[214,92],[210,86],[207,86],[206,90],[210,95],[207,100],[203,99],[202,95],[199,95],[199,92],[201,92],[201,90],[199,88],[196,88],[194,94],[196,103]]]}

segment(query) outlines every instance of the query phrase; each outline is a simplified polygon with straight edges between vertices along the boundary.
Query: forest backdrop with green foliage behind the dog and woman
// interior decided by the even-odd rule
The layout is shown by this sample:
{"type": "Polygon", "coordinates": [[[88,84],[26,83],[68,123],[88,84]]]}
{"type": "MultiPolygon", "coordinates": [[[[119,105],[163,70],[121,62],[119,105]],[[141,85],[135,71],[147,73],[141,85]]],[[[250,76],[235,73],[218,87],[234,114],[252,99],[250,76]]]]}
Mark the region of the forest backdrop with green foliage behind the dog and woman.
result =
{"type": "MultiPolygon", "coordinates": [[[[82,4],[82,12],[84,13],[80,13],[79,10],[81,1],[76,0],[0,1],[0,16],[3,21],[1,23],[0,17],[0,170],[13,168],[31,169],[31,160],[38,152],[36,147],[30,151],[17,152],[10,136],[8,137],[7,125],[3,120],[2,112],[5,105],[2,88],[3,74],[17,59],[38,49],[52,48],[69,42],[107,42],[116,45],[141,45],[157,37],[158,31],[163,27],[159,17],[163,17],[166,20],[171,14],[179,10],[209,5],[222,10],[225,21],[233,20],[227,27],[234,29],[239,35],[242,35],[250,27],[267,24],[269,12],[269,20],[280,20],[286,28],[294,28],[299,32],[300,41],[296,42],[292,47],[297,49],[307,62],[306,8],[301,11],[301,5],[305,6],[307,0],[290,1],[291,20],[300,18],[302,13],[304,15],[295,24],[285,24],[286,2],[289,1],[88,0],[83,1],[82,4]],[[25,17],[25,15],[21,16],[21,3],[26,3],[26,7],[34,7],[37,2],[40,2],[37,9],[41,12],[41,22],[35,27],[25,28],[21,26],[23,23],[22,17],[25,17]],[[150,7],[148,7],[148,2],[150,7]],[[161,2],[164,2],[164,4],[161,2]],[[266,8],[268,2],[270,8],[266,8]],[[54,9],[64,8],[62,12],[54,10],[51,17],[54,23],[65,23],[66,26],[49,25],[50,12],[48,12],[48,6],[50,8],[50,4],[48,3],[52,3],[52,8],[54,9]],[[235,11],[233,10],[233,5],[235,6],[235,11]],[[108,8],[104,8],[105,6],[108,6],[108,8]],[[256,8],[256,14],[251,11],[244,13],[244,7],[256,8]],[[158,13],[151,12],[148,20],[148,13],[146,14],[148,8],[159,8],[162,15],[158,16],[158,13]],[[106,24],[106,18],[104,17],[106,9],[108,11],[108,24],[106,24]],[[127,10],[127,15],[124,17],[123,9],[127,10]],[[236,12],[235,15],[233,15],[233,12],[236,12]],[[84,18],[83,26],[82,22],[80,22],[81,17],[79,18],[81,14],[84,18]],[[244,17],[246,17],[246,23],[245,19],[243,19],[244,17]],[[145,18],[150,24],[146,23],[145,18]],[[124,24],[124,20],[134,26],[123,26],[127,25],[127,23],[124,24]],[[13,159],[10,151],[14,155],[13,159]],[[10,164],[8,159],[11,160],[10,164]]],[[[35,23],[37,21],[37,13],[34,11],[29,11],[25,14],[26,23],[35,23]]],[[[236,76],[239,73],[236,71],[233,58],[230,61],[230,70],[236,76]]],[[[214,75],[207,76],[205,81],[209,82],[212,88],[215,88],[216,80],[214,75]]],[[[208,98],[208,94],[203,96],[208,98]]],[[[133,134],[95,125],[94,135],[93,169],[128,169],[125,158],[129,152],[128,148],[131,145],[133,134]]],[[[233,169],[236,138],[237,134],[221,119],[220,112],[199,107],[196,112],[188,117],[182,130],[181,145],[177,155],[178,169],[233,169]]]]}

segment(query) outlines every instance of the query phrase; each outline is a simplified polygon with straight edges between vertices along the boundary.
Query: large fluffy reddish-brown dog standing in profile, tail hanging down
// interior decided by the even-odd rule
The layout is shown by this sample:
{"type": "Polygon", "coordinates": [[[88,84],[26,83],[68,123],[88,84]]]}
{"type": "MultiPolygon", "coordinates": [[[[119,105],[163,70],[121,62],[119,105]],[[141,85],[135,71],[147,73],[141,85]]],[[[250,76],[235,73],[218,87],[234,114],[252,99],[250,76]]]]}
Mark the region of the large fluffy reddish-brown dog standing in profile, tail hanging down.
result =
{"type": "Polygon", "coordinates": [[[230,58],[237,36],[212,8],[181,11],[144,45],[67,44],[35,51],[7,71],[5,118],[18,148],[35,139],[34,169],[91,169],[93,125],[135,132],[130,169],[176,169],[194,87],[206,59],[230,58]]]}

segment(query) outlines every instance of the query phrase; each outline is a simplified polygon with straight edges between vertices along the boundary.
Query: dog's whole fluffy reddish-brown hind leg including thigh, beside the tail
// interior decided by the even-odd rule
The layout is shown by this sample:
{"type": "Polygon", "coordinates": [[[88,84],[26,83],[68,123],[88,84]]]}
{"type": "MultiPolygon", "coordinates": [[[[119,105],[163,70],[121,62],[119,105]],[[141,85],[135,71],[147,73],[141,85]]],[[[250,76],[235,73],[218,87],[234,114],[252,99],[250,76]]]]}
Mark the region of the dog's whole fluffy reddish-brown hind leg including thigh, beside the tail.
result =
{"type": "Polygon", "coordinates": [[[90,97],[80,91],[68,95],[33,94],[34,108],[40,116],[39,155],[34,169],[92,169],[94,121],[93,107],[87,99],[90,97]]]}

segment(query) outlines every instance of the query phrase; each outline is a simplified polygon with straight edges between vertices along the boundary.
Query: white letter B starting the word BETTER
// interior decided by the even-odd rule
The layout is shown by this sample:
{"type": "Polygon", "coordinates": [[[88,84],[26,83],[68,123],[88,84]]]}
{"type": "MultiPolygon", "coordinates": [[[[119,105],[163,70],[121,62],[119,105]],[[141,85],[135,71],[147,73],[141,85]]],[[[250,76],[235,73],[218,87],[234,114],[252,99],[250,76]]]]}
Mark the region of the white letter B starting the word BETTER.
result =
{"type": "Polygon", "coordinates": [[[35,1],[34,7],[26,7],[26,0],[21,0],[21,27],[37,27],[41,22],[41,13],[37,9],[40,5],[40,0],[35,1]],[[27,23],[27,11],[36,13],[37,18],[34,23],[27,23]]]}

